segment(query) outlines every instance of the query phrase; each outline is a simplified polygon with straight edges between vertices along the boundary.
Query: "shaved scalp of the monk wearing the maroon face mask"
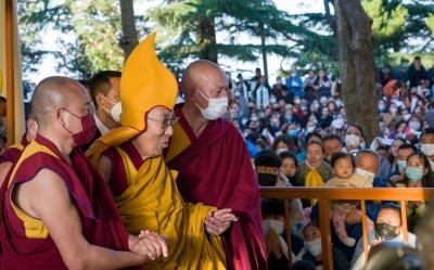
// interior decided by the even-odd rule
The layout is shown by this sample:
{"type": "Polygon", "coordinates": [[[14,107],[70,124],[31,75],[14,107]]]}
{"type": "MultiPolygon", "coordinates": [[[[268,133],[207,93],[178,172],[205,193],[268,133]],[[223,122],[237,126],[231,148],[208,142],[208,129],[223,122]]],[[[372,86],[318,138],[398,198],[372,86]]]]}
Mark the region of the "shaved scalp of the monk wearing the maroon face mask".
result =
{"type": "Polygon", "coordinates": [[[31,111],[39,128],[50,123],[55,107],[68,107],[86,89],[76,80],[53,76],[39,82],[31,98],[31,111]]]}

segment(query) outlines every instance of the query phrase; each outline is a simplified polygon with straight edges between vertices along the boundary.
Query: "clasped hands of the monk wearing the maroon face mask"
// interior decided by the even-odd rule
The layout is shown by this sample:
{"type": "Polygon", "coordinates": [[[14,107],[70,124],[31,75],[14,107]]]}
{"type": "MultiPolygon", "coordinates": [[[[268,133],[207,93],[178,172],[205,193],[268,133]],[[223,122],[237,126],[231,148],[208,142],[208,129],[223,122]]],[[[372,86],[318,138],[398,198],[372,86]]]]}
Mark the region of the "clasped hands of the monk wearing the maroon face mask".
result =
{"type": "Polygon", "coordinates": [[[131,245],[131,252],[140,254],[146,260],[154,260],[168,256],[167,244],[164,237],[151,231],[141,231],[135,244],[131,245]]]}

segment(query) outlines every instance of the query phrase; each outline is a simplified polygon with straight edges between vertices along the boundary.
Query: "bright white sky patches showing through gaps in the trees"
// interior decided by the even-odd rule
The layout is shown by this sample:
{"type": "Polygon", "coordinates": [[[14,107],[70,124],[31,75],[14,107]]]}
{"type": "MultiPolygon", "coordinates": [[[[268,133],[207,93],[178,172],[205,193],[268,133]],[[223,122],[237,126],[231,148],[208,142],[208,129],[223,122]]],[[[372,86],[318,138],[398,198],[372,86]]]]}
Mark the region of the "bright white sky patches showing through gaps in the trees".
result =
{"type": "MultiPolygon", "coordinates": [[[[289,12],[290,14],[293,13],[302,13],[305,11],[310,11],[310,12],[324,12],[323,8],[323,0],[273,0],[277,8],[284,10],[289,12]]],[[[136,9],[143,10],[145,8],[144,3],[148,4],[149,7],[149,1],[137,1],[135,2],[136,9]],[[137,7],[138,4],[143,4],[142,7],[137,7]]],[[[55,31],[52,31],[51,34],[59,35],[55,31]]],[[[47,36],[52,36],[51,34],[48,34],[47,36]]],[[[67,38],[67,37],[66,37],[67,38]]],[[[44,39],[44,44],[43,48],[48,50],[55,50],[55,39],[44,39]]],[[[218,37],[217,37],[218,39],[218,37]]],[[[248,37],[240,37],[239,42],[245,42],[248,41],[248,37]]],[[[260,67],[263,69],[263,60],[261,57],[258,59],[257,62],[240,62],[240,61],[231,61],[231,60],[219,60],[222,68],[225,72],[230,72],[232,74],[232,78],[237,77],[238,73],[242,73],[244,78],[250,78],[254,75],[254,70],[256,67],[260,67]]],[[[53,75],[65,75],[65,74],[59,74],[55,72],[55,59],[53,56],[46,56],[38,69],[37,73],[34,73],[27,77],[24,77],[23,79],[39,83],[40,80],[48,76],[53,76],[53,75]]],[[[277,73],[280,68],[281,64],[281,59],[279,59],[276,55],[267,55],[267,65],[268,65],[268,75],[269,75],[269,81],[271,83],[275,83],[276,81],[276,76],[277,73]]],[[[284,68],[289,69],[291,67],[291,63],[284,63],[284,68]]],[[[67,75],[66,75],[67,76],[67,75]]]]}

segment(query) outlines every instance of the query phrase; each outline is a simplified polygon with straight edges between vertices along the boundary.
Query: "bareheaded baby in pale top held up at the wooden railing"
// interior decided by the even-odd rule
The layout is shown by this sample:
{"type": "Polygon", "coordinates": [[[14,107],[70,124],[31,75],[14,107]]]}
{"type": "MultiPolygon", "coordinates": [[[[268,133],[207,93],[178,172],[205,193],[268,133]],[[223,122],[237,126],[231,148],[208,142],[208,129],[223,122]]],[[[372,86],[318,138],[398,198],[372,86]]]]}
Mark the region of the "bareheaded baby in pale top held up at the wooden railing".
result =
{"type": "MultiPolygon", "coordinates": [[[[354,173],[355,162],[350,154],[336,153],[332,155],[331,166],[334,178],[324,183],[323,187],[339,187],[339,188],[372,188],[372,184],[365,177],[354,173]]],[[[348,213],[357,207],[354,201],[334,201],[332,202],[332,220],[334,231],[337,237],[346,246],[354,246],[356,240],[349,237],[345,230],[345,219],[348,213]]],[[[373,230],[373,221],[367,218],[368,231],[373,230]]]]}

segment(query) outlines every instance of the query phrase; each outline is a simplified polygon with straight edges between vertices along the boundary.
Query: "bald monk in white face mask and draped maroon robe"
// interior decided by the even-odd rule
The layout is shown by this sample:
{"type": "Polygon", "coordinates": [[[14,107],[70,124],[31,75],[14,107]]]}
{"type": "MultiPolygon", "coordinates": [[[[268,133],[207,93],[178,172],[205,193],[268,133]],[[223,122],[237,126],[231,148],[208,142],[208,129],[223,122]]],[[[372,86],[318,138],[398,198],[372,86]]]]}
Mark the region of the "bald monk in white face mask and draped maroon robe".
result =
{"type": "Polygon", "coordinates": [[[187,67],[181,86],[186,103],[175,108],[180,125],[165,153],[167,166],[179,171],[179,192],[186,202],[231,208],[239,218],[224,235],[229,269],[267,269],[256,173],[240,132],[220,118],[228,78],[199,60],[187,67]]]}

